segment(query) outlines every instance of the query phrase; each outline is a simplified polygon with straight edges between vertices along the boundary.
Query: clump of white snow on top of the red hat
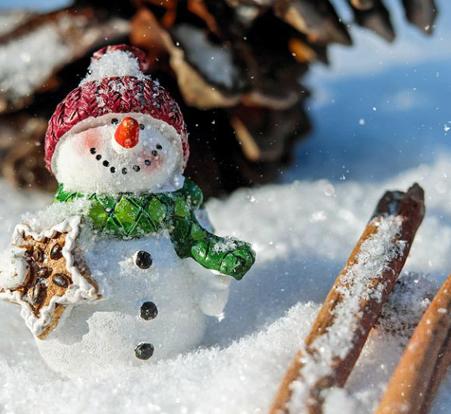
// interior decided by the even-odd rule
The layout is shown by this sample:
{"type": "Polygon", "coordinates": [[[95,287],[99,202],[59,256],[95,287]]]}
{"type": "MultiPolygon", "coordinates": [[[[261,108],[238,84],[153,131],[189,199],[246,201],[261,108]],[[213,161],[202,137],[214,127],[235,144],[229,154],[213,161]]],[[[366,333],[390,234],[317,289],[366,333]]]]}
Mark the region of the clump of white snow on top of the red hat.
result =
{"type": "MultiPolygon", "coordinates": [[[[91,61],[88,68],[88,74],[81,81],[81,84],[90,81],[101,81],[103,78],[115,76],[133,76],[140,80],[146,79],[141,71],[138,59],[128,52],[114,50],[105,53],[100,59],[91,61]]],[[[120,90],[118,90],[120,92],[120,90]]]]}

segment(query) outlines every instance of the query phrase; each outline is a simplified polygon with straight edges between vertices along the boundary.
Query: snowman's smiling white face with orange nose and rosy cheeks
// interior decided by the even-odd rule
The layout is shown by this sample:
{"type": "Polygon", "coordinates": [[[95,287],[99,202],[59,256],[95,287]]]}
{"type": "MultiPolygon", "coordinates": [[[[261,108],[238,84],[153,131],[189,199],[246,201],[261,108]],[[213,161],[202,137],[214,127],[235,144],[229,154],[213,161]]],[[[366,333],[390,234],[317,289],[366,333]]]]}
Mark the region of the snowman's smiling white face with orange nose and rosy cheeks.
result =
{"type": "Polygon", "coordinates": [[[174,128],[142,114],[85,120],[63,137],[52,170],[66,190],[85,193],[173,191],[183,184],[174,128]]]}

